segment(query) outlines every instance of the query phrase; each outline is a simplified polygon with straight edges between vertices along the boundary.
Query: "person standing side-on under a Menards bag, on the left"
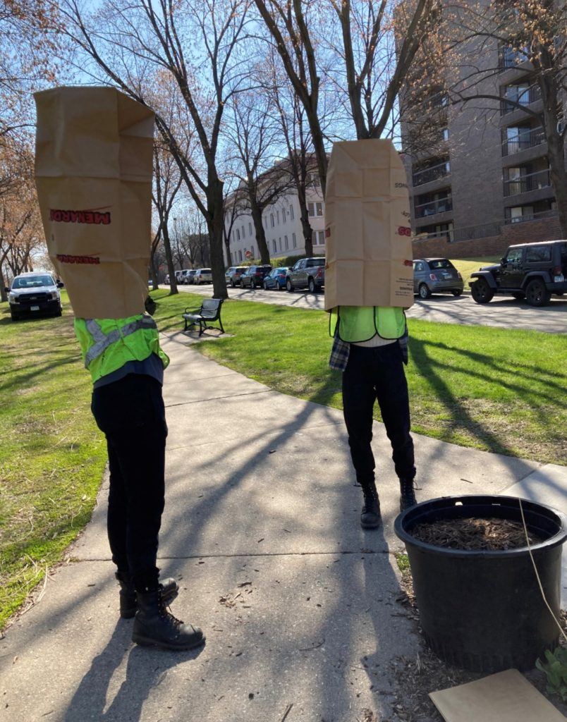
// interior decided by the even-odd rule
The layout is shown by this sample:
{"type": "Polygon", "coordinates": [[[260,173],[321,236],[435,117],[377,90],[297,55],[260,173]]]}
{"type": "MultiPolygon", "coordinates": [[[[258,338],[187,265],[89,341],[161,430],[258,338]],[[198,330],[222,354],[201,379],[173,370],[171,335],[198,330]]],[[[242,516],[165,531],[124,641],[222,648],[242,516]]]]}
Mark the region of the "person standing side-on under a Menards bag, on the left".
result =
{"type": "Polygon", "coordinates": [[[132,640],[165,649],[204,643],[173,617],[175,580],[160,583],[165,504],[163,372],[169,359],[146,309],[152,110],[109,87],[35,95],[35,175],[49,256],[64,279],[90,372],[92,414],[110,469],[108,539],[132,640]],[[119,149],[119,152],[117,152],[119,149]]]}

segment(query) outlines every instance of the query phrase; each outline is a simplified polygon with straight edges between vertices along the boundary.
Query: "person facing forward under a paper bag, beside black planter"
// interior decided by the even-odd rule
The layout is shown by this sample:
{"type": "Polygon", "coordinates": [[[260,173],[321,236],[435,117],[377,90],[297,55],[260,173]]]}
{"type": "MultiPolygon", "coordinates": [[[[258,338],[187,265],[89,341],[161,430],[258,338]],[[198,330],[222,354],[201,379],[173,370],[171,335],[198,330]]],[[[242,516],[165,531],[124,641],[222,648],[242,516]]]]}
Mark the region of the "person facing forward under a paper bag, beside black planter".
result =
{"type": "Polygon", "coordinates": [[[334,342],[329,365],[342,371],[342,400],[360,524],[376,529],[380,502],[371,447],[377,400],[399,478],[399,508],[415,505],[410,435],[407,324],[413,303],[407,181],[391,141],[334,144],[325,198],[326,287],[334,342]]]}

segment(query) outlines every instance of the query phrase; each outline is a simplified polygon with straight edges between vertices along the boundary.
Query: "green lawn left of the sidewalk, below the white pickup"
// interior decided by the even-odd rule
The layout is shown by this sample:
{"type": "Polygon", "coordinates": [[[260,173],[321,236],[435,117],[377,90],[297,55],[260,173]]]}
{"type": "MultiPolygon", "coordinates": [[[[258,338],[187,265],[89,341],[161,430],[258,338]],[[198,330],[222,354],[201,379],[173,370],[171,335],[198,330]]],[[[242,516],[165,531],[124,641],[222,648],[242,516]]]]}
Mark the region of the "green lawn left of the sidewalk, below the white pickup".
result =
{"type": "Polygon", "coordinates": [[[106,461],[72,314],[0,304],[0,629],[90,519],[106,461]]]}

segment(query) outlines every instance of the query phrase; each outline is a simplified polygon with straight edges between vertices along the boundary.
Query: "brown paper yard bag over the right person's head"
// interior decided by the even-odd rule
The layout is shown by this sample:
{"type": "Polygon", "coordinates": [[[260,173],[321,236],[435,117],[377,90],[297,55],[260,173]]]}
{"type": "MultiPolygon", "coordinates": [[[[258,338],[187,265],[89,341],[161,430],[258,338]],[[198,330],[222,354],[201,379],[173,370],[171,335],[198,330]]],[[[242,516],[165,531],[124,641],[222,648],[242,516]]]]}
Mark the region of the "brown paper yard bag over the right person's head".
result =
{"type": "Polygon", "coordinates": [[[325,235],[326,310],[413,304],[407,179],[390,140],[334,144],[325,235]]]}

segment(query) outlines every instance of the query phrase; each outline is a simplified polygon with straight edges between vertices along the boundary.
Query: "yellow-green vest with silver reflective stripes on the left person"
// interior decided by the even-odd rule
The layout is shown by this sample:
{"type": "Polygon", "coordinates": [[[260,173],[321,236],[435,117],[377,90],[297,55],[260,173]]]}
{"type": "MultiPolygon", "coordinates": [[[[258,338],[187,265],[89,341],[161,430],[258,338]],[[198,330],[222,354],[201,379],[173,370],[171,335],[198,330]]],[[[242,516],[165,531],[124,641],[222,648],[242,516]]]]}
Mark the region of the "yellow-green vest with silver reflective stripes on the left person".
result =
{"type": "Polygon", "coordinates": [[[93,383],[129,361],[143,361],[152,354],[160,357],[164,368],[169,364],[160,349],[155,321],[144,313],[129,318],[75,318],[74,329],[93,383]]]}

